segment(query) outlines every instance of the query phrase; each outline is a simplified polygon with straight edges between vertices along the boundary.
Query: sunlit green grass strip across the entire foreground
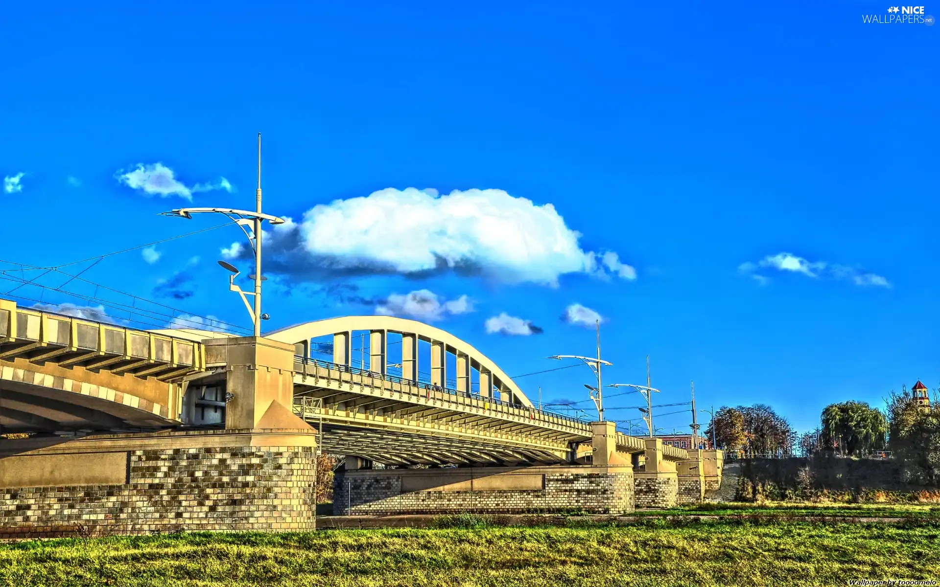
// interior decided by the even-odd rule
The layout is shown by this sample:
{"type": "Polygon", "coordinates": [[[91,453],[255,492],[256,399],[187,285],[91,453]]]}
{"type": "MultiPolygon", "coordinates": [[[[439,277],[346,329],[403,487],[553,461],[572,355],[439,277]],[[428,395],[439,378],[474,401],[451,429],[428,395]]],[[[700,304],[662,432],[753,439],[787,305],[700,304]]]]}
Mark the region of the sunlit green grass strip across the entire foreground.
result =
{"type": "MultiPolygon", "coordinates": [[[[473,520],[469,520],[473,521],[473,520]]],[[[0,545],[28,585],[838,585],[940,579],[940,523],[187,533],[0,545]]]]}

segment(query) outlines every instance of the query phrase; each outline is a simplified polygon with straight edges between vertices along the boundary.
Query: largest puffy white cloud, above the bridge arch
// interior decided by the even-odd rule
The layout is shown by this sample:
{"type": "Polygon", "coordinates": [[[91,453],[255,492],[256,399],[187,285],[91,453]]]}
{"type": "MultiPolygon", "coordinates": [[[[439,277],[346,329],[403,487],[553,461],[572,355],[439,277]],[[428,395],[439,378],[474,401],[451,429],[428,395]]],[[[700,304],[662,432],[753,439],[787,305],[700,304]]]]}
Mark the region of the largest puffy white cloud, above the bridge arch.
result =
{"type": "MultiPolygon", "coordinates": [[[[613,252],[585,251],[551,204],[502,190],[388,188],[321,204],[299,223],[265,231],[272,270],[296,274],[428,274],[454,271],[506,283],[557,286],[569,273],[635,279],[613,252]]],[[[250,252],[241,243],[228,258],[250,252]]]]}

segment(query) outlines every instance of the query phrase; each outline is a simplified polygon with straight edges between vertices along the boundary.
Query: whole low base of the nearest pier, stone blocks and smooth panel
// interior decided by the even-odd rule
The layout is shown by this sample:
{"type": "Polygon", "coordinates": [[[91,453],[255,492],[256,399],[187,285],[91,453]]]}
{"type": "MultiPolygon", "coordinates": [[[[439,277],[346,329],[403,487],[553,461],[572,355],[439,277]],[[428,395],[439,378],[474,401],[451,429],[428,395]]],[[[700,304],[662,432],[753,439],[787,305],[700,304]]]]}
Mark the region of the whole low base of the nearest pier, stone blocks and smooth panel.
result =
{"type": "Polygon", "coordinates": [[[0,537],[315,527],[308,429],[63,440],[0,445],[0,537]]]}

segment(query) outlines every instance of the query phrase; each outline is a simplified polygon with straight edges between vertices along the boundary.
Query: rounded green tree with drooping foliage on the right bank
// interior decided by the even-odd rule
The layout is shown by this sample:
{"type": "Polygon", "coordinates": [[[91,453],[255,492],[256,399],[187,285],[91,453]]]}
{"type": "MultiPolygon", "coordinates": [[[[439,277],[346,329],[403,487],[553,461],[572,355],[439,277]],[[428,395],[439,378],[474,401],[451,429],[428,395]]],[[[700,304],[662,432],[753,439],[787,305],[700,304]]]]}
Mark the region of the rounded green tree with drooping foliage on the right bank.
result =
{"type": "Polygon", "coordinates": [[[885,448],[887,420],[865,402],[847,401],[823,409],[823,446],[842,456],[864,455],[885,448]]]}

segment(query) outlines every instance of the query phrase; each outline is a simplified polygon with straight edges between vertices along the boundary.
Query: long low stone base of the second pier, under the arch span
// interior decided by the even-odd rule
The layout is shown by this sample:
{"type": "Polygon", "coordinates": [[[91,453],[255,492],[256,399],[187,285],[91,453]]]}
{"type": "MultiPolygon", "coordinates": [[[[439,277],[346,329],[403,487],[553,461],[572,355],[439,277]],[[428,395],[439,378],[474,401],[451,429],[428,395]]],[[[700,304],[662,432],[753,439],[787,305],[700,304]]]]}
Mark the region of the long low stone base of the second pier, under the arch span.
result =
{"type": "Polygon", "coordinates": [[[334,515],[623,514],[634,509],[630,467],[337,471],[334,515]]]}

